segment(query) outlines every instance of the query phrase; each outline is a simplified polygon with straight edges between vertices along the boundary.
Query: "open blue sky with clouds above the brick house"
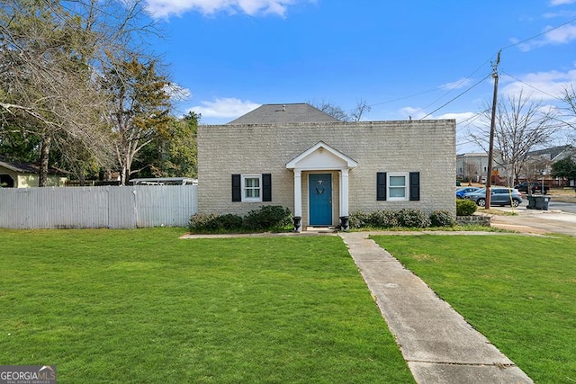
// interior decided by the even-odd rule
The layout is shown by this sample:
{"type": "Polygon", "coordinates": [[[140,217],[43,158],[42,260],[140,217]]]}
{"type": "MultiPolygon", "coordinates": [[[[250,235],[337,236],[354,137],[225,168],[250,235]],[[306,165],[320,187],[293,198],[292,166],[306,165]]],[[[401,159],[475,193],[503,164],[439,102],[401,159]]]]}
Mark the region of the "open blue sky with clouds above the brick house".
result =
{"type": "Polygon", "coordinates": [[[554,104],[576,84],[576,0],[147,4],[166,31],[155,49],[190,94],[178,109],[202,113],[203,124],[263,103],[324,101],[349,112],[364,100],[372,110],[363,120],[456,119],[462,152],[468,121],[491,103],[500,49],[499,97],[523,88],[554,104]]]}

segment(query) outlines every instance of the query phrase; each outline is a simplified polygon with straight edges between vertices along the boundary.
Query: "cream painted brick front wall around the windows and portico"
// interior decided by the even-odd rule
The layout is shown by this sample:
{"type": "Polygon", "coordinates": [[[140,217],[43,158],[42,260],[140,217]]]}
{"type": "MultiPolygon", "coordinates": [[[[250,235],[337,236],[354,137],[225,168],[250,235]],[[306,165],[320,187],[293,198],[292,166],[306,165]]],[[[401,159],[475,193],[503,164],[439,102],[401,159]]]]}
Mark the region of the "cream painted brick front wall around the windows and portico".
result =
{"type": "MultiPolygon", "coordinates": [[[[200,212],[244,215],[260,205],[293,210],[293,172],[286,163],[319,141],[353,158],[349,210],[455,212],[455,121],[363,121],[201,126],[198,129],[200,212]],[[420,201],[376,201],[377,172],[419,172],[420,201]],[[231,174],[272,174],[272,202],[232,202],[231,174]]],[[[338,173],[333,174],[338,210],[338,173]]],[[[307,175],[302,197],[307,199],[307,175]]],[[[306,201],[302,202],[304,216],[306,201]]],[[[338,211],[333,215],[338,219],[338,211]]]]}

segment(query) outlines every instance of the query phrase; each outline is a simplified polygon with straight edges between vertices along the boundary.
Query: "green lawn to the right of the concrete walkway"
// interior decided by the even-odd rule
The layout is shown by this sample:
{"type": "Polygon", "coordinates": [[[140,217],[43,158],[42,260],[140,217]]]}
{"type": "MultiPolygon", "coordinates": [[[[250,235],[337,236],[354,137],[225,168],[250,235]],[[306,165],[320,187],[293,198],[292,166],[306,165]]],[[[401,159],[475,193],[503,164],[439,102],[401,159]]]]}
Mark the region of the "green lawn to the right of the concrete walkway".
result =
{"type": "Polygon", "coordinates": [[[374,240],[536,383],[576,382],[576,238],[374,240]]]}

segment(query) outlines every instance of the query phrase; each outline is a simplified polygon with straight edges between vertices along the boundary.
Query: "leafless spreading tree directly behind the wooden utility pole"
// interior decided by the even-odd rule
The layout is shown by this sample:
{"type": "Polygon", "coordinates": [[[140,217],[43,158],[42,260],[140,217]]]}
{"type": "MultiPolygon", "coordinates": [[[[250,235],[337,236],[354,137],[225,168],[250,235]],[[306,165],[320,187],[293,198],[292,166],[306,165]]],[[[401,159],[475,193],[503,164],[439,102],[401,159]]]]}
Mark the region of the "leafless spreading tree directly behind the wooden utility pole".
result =
{"type": "MultiPolygon", "coordinates": [[[[472,137],[484,150],[489,147],[491,108],[483,115],[483,124],[472,137]]],[[[536,147],[551,142],[560,129],[555,121],[555,110],[541,102],[531,101],[522,92],[498,103],[494,148],[500,154],[498,163],[511,172],[514,182],[518,181],[528,153],[536,147]]],[[[509,181],[509,184],[511,181],[509,181]]]]}

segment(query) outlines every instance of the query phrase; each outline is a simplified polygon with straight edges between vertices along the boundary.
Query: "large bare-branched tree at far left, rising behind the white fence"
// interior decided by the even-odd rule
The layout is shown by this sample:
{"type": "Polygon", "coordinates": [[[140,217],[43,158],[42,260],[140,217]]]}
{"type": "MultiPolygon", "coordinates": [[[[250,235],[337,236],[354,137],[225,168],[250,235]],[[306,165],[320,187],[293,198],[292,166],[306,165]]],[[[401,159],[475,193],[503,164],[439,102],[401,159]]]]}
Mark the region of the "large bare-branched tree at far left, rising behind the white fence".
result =
{"type": "Polygon", "coordinates": [[[141,0],[4,0],[0,4],[0,135],[41,138],[40,186],[52,146],[106,164],[103,72],[144,55],[154,32],[141,0]],[[73,144],[73,145],[72,145],[73,144]],[[81,150],[78,150],[81,146],[81,150]],[[76,148],[76,149],[75,149],[76,148]]]}

